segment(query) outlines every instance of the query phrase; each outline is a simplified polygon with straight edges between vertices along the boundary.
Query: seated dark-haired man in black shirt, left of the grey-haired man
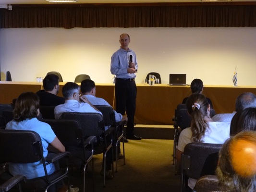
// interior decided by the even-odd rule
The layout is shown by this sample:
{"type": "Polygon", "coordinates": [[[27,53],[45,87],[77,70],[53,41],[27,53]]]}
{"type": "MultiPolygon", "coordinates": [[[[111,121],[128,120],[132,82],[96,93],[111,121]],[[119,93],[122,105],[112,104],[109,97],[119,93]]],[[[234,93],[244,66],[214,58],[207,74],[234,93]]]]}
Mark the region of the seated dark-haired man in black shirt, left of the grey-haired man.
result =
{"type": "Polygon", "coordinates": [[[55,74],[46,75],[43,80],[44,90],[37,91],[40,98],[40,106],[57,106],[65,102],[63,97],[57,96],[59,93],[59,77],[55,74]]]}

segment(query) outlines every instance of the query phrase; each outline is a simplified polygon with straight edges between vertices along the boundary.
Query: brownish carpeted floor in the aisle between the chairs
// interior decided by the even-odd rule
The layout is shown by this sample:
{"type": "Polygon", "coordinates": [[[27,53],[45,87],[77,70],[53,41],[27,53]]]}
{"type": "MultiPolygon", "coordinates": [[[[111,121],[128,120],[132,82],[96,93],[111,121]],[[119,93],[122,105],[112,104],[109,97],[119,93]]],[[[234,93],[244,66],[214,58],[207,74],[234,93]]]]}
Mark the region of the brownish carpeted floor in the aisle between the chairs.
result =
{"type": "MultiPolygon", "coordinates": [[[[106,181],[99,171],[102,155],[94,156],[96,192],[178,192],[179,176],[174,175],[172,165],[173,140],[143,139],[130,140],[125,144],[126,165],[118,160],[118,172],[113,180],[106,181]]],[[[83,191],[83,176],[73,170],[71,184],[83,191]]],[[[92,192],[92,178],[86,177],[86,192],[92,192]]]]}

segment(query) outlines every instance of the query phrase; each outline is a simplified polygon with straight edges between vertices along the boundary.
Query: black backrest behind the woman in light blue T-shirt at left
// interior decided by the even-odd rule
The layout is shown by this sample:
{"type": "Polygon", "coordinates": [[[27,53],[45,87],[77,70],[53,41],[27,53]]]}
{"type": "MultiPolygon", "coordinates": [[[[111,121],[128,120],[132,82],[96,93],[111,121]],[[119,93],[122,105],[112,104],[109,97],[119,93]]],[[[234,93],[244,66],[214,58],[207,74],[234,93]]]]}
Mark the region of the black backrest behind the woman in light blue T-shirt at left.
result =
{"type": "Polygon", "coordinates": [[[37,162],[43,159],[42,151],[41,137],[37,132],[0,130],[0,163],[37,162]]]}

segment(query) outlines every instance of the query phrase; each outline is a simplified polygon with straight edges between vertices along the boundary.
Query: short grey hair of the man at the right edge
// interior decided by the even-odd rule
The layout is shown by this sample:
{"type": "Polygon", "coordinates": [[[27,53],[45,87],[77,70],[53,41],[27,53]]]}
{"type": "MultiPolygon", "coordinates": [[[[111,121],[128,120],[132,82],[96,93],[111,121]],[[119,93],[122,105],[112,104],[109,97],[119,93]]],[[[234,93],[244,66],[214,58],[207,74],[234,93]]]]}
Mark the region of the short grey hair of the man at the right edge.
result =
{"type": "Polygon", "coordinates": [[[256,108],[256,95],[253,93],[242,93],[236,98],[235,111],[242,110],[244,108],[256,108]]]}

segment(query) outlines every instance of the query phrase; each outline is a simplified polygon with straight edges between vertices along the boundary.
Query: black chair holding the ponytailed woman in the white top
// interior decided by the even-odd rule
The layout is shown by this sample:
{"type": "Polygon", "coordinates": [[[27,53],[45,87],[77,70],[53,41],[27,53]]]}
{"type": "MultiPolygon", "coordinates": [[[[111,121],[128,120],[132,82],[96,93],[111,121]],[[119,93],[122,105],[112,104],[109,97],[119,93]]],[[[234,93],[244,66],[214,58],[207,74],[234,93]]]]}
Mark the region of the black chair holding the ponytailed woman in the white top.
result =
{"type": "Polygon", "coordinates": [[[181,158],[180,192],[183,192],[185,178],[198,180],[204,175],[215,175],[219,150],[222,144],[190,143],[184,148],[181,158]]]}

